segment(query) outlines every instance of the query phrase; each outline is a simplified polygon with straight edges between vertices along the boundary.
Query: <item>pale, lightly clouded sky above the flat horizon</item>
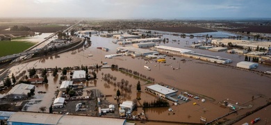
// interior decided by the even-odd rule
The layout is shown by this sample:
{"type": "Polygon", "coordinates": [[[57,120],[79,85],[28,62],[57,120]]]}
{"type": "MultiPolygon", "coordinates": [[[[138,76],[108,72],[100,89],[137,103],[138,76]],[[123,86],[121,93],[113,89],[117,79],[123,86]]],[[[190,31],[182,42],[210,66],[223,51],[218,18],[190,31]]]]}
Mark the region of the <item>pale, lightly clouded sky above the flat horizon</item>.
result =
{"type": "Polygon", "coordinates": [[[271,18],[271,0],[0,0],[0,17],[271,18]]]}

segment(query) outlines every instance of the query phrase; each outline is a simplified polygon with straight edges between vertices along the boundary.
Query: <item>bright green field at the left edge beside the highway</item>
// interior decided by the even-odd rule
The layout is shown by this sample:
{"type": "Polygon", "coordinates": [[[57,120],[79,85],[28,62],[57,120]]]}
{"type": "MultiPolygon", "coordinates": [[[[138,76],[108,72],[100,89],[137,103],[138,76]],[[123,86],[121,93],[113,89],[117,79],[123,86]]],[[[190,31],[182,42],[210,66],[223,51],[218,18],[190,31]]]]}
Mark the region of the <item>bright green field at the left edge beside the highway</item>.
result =
{"type": "Polygon", "coordinates": [[[26,41],[0,41],[0,57],[19,53],[32,47],[34,44],[33,42],[26,41]]]}

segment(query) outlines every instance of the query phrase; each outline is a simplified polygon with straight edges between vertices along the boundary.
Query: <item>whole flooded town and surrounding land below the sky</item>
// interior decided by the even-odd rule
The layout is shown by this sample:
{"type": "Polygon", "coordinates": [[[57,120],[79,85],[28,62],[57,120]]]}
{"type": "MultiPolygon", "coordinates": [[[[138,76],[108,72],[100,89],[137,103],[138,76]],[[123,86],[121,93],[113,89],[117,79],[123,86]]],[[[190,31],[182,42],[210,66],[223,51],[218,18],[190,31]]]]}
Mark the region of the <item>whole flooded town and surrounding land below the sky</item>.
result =
{"type": "Polygon", "coordinates": [[[0,19],[0,124],[271,124],[269,21],[0,19]]]}

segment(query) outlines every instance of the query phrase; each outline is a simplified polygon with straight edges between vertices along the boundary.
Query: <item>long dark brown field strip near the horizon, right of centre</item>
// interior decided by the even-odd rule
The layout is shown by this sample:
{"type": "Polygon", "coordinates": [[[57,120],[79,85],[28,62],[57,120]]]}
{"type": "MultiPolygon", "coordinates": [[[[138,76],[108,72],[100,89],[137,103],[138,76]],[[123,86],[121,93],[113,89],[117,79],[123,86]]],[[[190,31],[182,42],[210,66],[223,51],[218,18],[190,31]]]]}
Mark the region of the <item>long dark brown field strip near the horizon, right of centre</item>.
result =
{"type": "Polygon", "coordinates": [[[203,32],[215,32],[211,29],[200,28],[194,26],[181,26],[181,27],[160,27],[160,28],[145,28],[147,30],[154,31],[167,31],[176,33],[203,33],[203,32]]]}

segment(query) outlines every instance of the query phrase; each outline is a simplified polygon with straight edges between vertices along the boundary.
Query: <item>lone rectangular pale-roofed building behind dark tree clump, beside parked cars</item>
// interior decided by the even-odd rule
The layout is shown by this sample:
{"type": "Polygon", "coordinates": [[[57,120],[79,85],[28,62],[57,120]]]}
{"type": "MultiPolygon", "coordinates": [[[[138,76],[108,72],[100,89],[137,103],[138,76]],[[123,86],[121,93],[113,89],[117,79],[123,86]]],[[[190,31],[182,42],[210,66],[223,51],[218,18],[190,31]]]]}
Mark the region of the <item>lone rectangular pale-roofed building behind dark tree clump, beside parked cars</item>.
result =
{"type": "Polygon", "coordinates": [[[177,91],[175,91],[175,90],[171,90],[169,88],[166,88],[166,87],[164,87],[162,85],[158,85],[158,84],[147,86],[146,91],[154,93],[154,94],[159,95],[160,97],[164,97],[164,98],[174,96],[177,93],[177,91]]]}

